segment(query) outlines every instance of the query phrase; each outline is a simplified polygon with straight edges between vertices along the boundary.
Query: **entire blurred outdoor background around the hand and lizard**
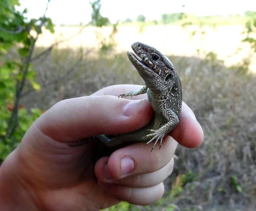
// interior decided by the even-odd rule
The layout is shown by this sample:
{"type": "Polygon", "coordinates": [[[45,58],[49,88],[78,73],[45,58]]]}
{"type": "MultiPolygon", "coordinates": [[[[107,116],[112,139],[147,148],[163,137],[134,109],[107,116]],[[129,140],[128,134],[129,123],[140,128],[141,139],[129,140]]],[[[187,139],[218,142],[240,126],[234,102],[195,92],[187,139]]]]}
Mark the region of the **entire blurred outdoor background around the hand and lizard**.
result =
{"type": "Polygon", "coordinates": [[[58,101],[143,85],[126,55],[140,41],[174,64],[204,142],[178,146],[156,203],[106,210],[256,210],[255,11],[249,0],[1,0],[1,162],[58,101]]]}

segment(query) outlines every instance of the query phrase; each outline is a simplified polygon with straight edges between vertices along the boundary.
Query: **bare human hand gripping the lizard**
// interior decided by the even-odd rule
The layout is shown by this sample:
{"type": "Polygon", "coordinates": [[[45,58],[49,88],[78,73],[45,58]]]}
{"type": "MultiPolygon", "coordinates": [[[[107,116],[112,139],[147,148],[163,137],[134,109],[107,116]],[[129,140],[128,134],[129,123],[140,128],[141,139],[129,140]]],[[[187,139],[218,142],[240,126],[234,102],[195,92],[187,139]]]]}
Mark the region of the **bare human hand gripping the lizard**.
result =
{"type": "Polygon", "coordinates": [[[148,205],[162,197],[177,144],[194,148],[203,141],[203,130],[185,103],[180,123],[169,134],[177,142],[166,136],[160,150],[150,152],[152,143],[145,147],[143,142],[134,143],[94,165],[96,141],[67,145],[147,124],[154,112],[146,95],[116,97],[140,87],[106,87],[90,96],[60,101],[41,115],[0,167],[0,210],[96,211],[120,201],[148,205]]]}

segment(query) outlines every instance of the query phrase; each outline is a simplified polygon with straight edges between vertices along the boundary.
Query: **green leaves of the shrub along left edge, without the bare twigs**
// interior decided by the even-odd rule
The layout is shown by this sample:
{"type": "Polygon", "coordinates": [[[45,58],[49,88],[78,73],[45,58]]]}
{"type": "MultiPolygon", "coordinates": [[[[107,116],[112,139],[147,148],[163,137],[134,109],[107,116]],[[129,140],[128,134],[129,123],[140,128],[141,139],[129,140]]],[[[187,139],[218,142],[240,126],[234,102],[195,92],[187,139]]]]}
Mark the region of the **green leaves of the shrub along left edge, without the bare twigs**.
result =
{"type": "Polygon", "coordinates": [[[41,115],[38,109],[28,112],[23,108],[20,98],[25,83],[40,90],[40,85],[35,82],[32,53],[43,26],[54,32],[50,18],[27,20],[24,16],[27,9],[23,12],[15,9],[19,5],[18,0],[0,1],[0,58],[11,48],[17,49],[20,56],[17,61],[3,60],[0,66],[0,160],[17,147],[26,130],[41,115]],[[32,30],[36,35],[31,34],[32,30]]]}

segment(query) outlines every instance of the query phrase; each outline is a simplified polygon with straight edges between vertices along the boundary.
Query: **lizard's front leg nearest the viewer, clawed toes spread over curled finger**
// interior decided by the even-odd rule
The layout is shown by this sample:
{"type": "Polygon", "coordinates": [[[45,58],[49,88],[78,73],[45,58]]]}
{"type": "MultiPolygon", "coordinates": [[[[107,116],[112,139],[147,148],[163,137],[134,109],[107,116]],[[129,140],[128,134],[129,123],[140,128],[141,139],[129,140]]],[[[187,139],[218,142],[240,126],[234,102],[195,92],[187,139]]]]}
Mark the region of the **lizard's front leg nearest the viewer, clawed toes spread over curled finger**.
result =
{"type": "Polygon", "coordinates": [[[162,115],[164,116],[164,118],[166,118],[168,120],[168,122],[157,130],[148,130],[152,133],[150,133],[142,138],[144,140],[150,139],[145,145],[148,145],[149,143],[151,143],[155,140],[152,150],[157,145],[158,141],[160,141],[160,147],[159,147],[159,149],[160,149],[162,146],[162,141],[163,141],[164,136],[166,136],[168,133],[170,133],[179,123],[178,116],[169,108],[166,108],[163,111],[162,115]]]}

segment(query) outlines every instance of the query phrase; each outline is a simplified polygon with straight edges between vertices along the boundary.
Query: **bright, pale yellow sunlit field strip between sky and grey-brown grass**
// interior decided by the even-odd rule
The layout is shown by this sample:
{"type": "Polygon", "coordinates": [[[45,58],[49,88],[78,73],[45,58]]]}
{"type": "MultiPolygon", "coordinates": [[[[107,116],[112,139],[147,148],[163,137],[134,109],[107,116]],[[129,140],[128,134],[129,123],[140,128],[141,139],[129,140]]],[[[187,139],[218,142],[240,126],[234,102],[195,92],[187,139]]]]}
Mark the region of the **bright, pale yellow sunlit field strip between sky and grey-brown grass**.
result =
{"type": "MultiPolygon", "coordinates": [[[[55,34],[44,32],[38,40],[38,47],[46,47],[56,40],[65,40],[78,33],[79,27],[55,27],[55,34]]],[[[77,49],[95,48],[99,40],[97,34],[102,33],[103,38],[108,39],[111,34],[111,27],[96,29],[88,26],[82,30],[76,37],[64,43],[60,43],[60,48],[77,49]]],[[[245,38],[243,26],[120,26],[115,35],[117,43],[117,52],[126,52],[131,50],[131,43],[140,41],[147,43],[159,49],[163,54],[186,56],[186,57],[204,57],[207,52],[215,52],[218,59],[224,60],[225,65],[234,65],[247,58],[250,46],[247,43],[241,43],[245,38]],[[192,33],[197,33],[192,36],[192,33]],[[204,33],[204,35],[201,34],[204,33]],[[200,49],[198,54],[197,49],[200,49]],[[237,52],[237,50],[239,52],[237,52]]],[[[253,58],[250,70],[256,71],[256,56],[253,58]]]]}

